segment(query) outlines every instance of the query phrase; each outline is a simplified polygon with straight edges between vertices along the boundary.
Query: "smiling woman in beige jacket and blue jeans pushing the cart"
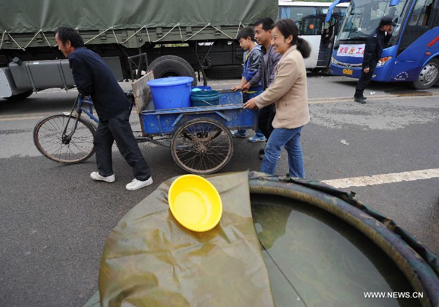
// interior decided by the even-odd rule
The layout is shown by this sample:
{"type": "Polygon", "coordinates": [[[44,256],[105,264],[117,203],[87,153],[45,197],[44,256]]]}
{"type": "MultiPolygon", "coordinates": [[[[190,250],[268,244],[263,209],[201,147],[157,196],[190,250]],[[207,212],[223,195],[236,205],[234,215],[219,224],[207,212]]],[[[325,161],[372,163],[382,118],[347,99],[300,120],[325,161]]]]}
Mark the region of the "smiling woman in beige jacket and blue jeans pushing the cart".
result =
{"type": "Polygon", "coordinates": [[[274,130],[265,146],[261,171],[274,174],[282,147],[288,152],[291,177],[304,178],[300,131],[309,122],[306,70],[303,58],[309,57],[309,44],[300,39],[299,29],[290,19],[279,20],[271,32],[271,44],[282,54],[273,84],[259,96],[250,99],[244,108],[256,109],[276,105],[274,130]]]}

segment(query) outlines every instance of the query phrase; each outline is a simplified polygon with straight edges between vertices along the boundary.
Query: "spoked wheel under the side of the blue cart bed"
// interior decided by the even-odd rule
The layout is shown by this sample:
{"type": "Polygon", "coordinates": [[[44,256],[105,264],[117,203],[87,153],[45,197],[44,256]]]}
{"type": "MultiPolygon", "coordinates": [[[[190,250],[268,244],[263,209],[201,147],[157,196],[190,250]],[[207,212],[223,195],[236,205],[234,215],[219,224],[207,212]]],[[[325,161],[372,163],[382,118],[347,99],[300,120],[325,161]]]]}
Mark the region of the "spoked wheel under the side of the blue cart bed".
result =
{"type": "Polygon", "coordinates": [[[172,136],[171,154],[175,163],[189,173],[212,174],[232,158],[232,134],[211,118],[190,120],[172,136]]]}

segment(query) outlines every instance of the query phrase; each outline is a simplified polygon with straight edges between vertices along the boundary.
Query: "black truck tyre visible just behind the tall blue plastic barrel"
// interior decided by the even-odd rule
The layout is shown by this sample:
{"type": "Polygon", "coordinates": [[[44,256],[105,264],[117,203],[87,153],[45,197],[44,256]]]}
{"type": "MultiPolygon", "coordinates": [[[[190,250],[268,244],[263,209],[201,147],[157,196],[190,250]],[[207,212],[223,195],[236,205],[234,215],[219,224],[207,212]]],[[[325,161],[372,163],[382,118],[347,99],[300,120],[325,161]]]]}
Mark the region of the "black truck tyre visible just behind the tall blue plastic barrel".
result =
{"type": "Polygon", "coordinates": [[[184,59],[177,56],[162,56],[149,65],[148,71],[154,71],[154,78],[166,77],[192,77],[192,86],[197,86],[197,78],[192,66],[184,59]]]}

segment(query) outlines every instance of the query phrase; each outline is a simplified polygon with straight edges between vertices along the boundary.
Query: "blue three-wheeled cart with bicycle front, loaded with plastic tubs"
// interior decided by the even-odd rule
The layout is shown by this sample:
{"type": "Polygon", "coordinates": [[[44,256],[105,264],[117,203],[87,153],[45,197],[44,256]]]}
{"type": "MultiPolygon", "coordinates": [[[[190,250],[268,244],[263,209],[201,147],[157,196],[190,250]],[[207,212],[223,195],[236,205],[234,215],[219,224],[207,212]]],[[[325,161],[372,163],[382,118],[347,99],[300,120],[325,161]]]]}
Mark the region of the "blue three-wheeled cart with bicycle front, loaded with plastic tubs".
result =
{"type": "MultiPolygon", "coordinates": [[[[140,118],[142,135],[136,140],[168,147],[176,164],[189,173],[211,174],[220,170],[233,154],[230,130],[256,129],[258,125],[258,112],[242,107],[241,92],[220,91],[219,105],[162,110],[154,109],[148,93],[148,88],[138,88],[134,83],[133,93],[127,93],[135,102],[140,118]]],[[[38,150],[63,164],[90,158],[94,153],[96,123],[99,123],[92,104],[90,99],[79,97],[72,112],[41,120],[34,128],[38,150]],[[82,113],[93,121],[81,117],[82,113]]]]}

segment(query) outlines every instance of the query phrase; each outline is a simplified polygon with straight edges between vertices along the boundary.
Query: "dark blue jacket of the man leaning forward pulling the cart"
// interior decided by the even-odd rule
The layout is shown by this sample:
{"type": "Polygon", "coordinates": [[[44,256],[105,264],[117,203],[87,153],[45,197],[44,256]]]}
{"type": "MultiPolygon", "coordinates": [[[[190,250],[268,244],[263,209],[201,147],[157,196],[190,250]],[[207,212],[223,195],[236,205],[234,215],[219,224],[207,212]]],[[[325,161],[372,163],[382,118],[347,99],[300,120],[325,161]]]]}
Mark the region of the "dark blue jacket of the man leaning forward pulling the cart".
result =
{"type": "Polygon", "coordinates": [[[78,47],[69,55],[73,80],[80,94],[91,96],[101,121],[120,114],[129,107],[128,99],[102,58],[78,47]]]}

